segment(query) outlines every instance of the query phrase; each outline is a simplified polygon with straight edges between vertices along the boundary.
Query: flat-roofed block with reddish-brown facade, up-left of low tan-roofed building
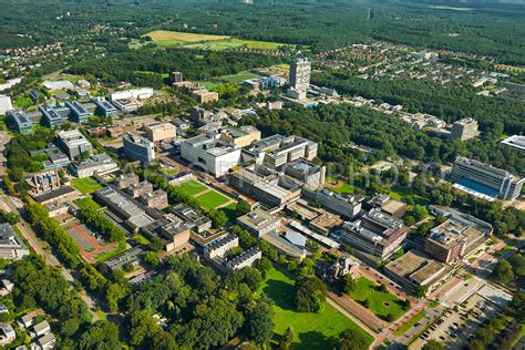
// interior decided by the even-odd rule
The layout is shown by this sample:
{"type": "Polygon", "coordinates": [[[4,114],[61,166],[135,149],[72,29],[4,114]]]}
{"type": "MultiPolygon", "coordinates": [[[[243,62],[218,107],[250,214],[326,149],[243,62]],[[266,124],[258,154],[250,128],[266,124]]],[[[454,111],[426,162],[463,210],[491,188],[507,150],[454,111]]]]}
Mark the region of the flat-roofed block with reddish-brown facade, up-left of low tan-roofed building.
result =
{"type": "Polygon", "coordinates": [[[357,222],[344,223],[341,239],[346,245],[382,260],[401,247],[406,233],[403,222],[374,208],[357,222]]]}

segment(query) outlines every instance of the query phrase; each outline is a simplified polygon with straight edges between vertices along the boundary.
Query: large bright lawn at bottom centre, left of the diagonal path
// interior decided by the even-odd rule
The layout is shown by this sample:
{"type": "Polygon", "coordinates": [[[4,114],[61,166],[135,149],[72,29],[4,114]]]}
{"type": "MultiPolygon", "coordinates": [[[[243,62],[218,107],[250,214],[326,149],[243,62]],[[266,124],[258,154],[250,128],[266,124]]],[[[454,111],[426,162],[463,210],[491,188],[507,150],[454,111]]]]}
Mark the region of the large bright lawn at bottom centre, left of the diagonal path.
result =
{"type": "Polygon", "coordinates": [[[259,292],[265,292],[275,302],[274,338],[277,341],[288,327],[294,330],[294,348],[297,349],[331,349],[333,337],[346,329],[362,332],[369,343],[373,341],[369,333],[328,303],[319,313],[295,311],[294,280],[276,269],[266,274],[266,281],[259,292]]]}

